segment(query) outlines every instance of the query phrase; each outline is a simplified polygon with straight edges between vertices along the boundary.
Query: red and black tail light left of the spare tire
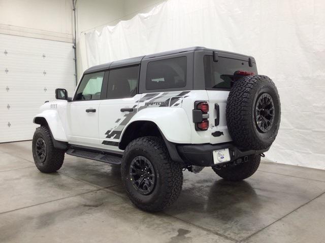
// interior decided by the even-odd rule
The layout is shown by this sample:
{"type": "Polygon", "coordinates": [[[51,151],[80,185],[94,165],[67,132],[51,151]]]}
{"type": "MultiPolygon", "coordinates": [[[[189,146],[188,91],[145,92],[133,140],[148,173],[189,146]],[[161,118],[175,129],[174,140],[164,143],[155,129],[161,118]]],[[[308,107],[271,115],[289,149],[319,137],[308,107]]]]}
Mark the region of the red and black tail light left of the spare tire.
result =
{"type": "Polygon", "coordinates": [[[193,123],[195,124],[195,130],[206,131],[209,128],[209,103],[206,101],[196,101],[194,103],[193,123]]]}

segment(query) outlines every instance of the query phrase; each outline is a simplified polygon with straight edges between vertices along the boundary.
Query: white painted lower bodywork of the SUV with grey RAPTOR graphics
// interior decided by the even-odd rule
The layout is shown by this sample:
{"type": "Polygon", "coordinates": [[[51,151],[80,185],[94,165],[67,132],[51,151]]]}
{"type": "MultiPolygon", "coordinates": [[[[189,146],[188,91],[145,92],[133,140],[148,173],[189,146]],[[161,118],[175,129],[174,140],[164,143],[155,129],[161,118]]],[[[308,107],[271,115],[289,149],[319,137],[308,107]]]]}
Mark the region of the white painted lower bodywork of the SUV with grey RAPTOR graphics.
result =
{"type": "Polygon", "coordinates": [[[59,141],[99,149],[118,149],[126,128],[134,121],[152,121],[166,139],[178,144],[217,144],[231,141],[225,120],[228,91],[184,91],[138,94],[133,98],[93,101],[50,102],[41,107],[37,116],[46,118],[53,137],[59,141]],[[209,102],[209,129],[196,131],[192,121],[195,101],[209,102]],[[220,123],[214,126],[220,107],[220,123]],[[51,107],[55,107],[54,110],[51,107]],[[134,108],[134,112],[121,112],[134,108]],[[86,112],[96,109],[96,112],[86,112]],[[214,137],[211,133],[223,135],[214,137]]]}

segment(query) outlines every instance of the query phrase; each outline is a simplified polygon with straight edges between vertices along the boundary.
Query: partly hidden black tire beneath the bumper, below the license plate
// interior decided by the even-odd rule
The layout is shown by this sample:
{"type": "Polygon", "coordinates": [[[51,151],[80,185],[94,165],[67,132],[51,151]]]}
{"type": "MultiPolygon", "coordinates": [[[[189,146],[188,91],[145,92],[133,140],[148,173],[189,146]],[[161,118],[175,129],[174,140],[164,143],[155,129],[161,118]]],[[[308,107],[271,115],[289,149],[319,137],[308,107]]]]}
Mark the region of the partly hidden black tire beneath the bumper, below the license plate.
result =
{"type": "Polygon", "coordinates": [[[227,165],[225,167],[212,167],[212,170],[224,180],[241,181],[253,175],[261,162],[261,155],[250,155],[248,161],[238,165],[227,165]]]}

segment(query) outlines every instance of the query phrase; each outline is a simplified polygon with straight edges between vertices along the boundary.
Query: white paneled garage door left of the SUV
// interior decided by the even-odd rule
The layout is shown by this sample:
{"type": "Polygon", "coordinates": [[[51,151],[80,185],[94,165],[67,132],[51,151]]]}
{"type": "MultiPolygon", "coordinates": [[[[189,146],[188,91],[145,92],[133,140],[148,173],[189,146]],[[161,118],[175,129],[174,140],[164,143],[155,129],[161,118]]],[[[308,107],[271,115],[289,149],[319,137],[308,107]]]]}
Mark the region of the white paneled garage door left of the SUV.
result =
{"type": "Polygon", "coordinates": [[[0,142],[32,139],[37,127],[32,118],[46,100],[55,99],[56,88],[65,88],[72,96],[75,90],[72,46],[72,43],[0,34],[0,142]]]}

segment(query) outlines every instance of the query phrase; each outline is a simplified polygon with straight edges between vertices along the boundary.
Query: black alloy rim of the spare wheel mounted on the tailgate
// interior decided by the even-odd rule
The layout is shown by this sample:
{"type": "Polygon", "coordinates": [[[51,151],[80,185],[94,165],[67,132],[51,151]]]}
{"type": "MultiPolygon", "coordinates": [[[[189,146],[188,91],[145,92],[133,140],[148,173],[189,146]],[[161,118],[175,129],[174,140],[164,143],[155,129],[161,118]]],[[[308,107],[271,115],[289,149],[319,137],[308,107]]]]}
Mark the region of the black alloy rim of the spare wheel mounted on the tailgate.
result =
{"type": "Polygon", "coordinates": [[[264,93],[256,100],[255,122],[262,133],[270,131],[274,121],[274,103],[271,95],[264,93]]]}

